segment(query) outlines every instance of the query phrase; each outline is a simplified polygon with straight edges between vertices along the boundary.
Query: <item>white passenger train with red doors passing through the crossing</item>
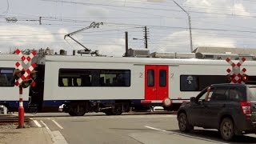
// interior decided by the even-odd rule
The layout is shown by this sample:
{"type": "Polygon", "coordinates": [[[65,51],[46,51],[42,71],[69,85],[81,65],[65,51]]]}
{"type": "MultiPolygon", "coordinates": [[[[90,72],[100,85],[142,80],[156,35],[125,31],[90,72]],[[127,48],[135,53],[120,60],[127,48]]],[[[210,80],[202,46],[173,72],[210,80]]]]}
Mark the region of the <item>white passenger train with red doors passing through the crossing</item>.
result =
{"type": "MultiPolygon", "coordinates": [[[[18,55],[0,54],[0,105],[18,110],[14,86],[18,55]]],[[[61,110],[70,116],[89,112],[118,115],[131,109],[163,106],[178,110],[206,86],[230,82],[225,60],[46,55],[34,57],[35,86],[23,90],[27,112],[61,110]]],[[[238,62],[238,61],[234,61],[238,62]]],[[[246,83],[256,84],[256,62],[246,61],[246,83]]]]}

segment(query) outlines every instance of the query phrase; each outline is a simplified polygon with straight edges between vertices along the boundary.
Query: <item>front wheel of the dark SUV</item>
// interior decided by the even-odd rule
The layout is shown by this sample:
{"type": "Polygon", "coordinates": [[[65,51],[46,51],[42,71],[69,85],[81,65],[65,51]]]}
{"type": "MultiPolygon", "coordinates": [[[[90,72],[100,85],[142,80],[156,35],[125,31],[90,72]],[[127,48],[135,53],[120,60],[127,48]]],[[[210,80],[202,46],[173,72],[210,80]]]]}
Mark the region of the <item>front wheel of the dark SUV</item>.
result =
{"type": "Polygon", "coordinates": [[[178,115],[178,128],[182,132],[188,132],[190,130],[194,130],[194,126],[191,126],[186,118],[185,113],[181,113],[178,115]]]}

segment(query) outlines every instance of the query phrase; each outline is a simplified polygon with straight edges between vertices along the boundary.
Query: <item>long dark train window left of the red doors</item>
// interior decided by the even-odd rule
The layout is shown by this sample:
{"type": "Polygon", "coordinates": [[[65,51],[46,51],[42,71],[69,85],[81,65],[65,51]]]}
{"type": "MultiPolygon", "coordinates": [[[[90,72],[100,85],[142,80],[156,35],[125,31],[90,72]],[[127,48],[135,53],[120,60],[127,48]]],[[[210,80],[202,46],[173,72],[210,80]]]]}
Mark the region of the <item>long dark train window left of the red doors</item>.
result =
{"type": "Polygon", "coordinates": [[[130,86],[130,70],[60,69],[58,86],[130,86]]]}

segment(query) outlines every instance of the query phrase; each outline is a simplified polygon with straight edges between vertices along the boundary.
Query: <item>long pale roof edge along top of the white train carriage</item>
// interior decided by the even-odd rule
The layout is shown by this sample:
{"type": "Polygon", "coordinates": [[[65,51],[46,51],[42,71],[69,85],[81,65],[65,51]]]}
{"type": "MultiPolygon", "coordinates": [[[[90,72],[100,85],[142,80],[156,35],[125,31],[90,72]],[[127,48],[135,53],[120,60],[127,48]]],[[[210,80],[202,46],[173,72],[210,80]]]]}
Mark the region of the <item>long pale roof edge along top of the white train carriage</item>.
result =
{"type": "MultiPolygon", "coordinates": [[[[227,65],[225,60],[198,58],[134,58],[134,57],[83,57],[46,55],[46,62],[102,62],[102,63],[134,63],[160,65],[227,65]]],[[[239,61],[234,61],[235,63],[239,61]]],[[[255,61],[246,61],[243,66],[256,66],[255,61]]]]}

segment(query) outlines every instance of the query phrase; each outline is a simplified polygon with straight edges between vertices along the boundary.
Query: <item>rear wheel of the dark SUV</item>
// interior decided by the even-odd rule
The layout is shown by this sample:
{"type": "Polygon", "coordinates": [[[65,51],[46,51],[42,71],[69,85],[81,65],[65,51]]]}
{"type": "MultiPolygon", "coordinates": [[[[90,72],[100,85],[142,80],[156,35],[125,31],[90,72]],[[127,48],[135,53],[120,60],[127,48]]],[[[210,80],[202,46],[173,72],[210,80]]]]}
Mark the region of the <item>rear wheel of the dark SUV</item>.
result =
{"type": "Polygon", "coordinates": [[[225,141],[231,141],[234,138],[234,122],[230,118],[224,118],[220,125],[220,133],[225,141]]]}

